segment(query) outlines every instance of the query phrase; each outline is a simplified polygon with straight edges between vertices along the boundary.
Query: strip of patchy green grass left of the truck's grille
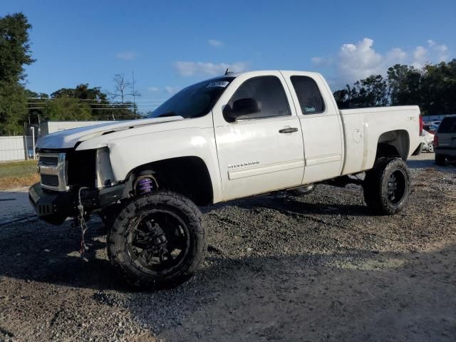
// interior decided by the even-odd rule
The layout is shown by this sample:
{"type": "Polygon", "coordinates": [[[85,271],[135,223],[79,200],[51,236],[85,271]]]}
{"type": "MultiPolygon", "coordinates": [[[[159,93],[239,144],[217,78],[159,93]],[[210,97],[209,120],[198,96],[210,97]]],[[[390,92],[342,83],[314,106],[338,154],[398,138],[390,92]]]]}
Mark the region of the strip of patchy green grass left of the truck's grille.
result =
{"type": "Polygon", "coordinates": [[[36,160],[0,162],[0,190],[29,187],[38,181],[36,160]]]}

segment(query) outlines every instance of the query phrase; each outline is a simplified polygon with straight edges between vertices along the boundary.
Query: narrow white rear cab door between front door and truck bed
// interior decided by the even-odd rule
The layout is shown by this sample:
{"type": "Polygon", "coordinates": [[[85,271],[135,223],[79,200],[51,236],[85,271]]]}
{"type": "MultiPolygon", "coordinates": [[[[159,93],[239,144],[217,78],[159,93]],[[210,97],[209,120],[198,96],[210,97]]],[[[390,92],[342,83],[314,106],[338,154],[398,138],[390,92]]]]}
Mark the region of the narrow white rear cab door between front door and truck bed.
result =
{"type": "Polygon", "coordinates": [[[343,127],[326,81],[317,73],[283,71],[304,139],[303,184],[341,175],[343,127]]]}

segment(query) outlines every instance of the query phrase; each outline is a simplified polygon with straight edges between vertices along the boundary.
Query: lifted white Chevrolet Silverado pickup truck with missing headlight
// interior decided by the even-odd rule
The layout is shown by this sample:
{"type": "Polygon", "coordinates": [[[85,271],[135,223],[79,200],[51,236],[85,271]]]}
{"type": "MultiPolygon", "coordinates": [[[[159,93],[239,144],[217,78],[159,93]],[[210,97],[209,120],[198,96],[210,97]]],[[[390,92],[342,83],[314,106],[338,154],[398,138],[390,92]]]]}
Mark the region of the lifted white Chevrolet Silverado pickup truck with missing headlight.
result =
{"type": "Polygon", "coordinates": [[[395,214],[410,194],[405,160],[421,152],[418,106],[338,110],[318,73],[226,73],[189,86],[150,118],[38,141],[39,217],[98,212],[108,255],[129,284],[179,284],[204,259],[197,205],[344,185],[366,172],[366,204],[395,214]]]}

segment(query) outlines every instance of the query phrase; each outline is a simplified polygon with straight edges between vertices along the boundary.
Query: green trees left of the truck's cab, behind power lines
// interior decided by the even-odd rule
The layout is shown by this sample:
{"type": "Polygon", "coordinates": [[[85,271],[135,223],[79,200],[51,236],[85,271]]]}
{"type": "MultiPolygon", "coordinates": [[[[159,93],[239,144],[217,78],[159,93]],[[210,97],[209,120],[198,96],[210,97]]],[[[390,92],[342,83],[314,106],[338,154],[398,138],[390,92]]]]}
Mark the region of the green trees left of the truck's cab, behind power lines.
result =
{"type": "Polygon", "coordinates": [[[139,118],[138,108],[127,98],[140,94],[123,74],[113,78],[113,93],[87,83],[61,88],[50,95],[26,88],[24,66],[31,56],[28,31],[31,24],[22,13],[0,17],[0,135],[24,134],[24,123],[39,120],[119,120],[139,118]]]}

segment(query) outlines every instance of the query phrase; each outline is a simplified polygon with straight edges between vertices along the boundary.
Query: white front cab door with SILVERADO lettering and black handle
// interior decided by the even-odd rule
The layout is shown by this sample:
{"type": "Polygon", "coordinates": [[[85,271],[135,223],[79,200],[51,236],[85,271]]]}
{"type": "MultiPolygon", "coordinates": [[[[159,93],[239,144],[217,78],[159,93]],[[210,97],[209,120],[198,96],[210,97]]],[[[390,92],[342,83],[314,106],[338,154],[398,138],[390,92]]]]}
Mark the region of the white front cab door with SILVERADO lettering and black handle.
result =
{"type": "Polygon", "coordinates": [[[290,101],[278,71],[238,76],[217,101],[212,111],[224,201],[301,184],[304,147],[290,101]]]}

